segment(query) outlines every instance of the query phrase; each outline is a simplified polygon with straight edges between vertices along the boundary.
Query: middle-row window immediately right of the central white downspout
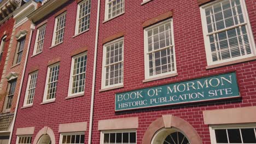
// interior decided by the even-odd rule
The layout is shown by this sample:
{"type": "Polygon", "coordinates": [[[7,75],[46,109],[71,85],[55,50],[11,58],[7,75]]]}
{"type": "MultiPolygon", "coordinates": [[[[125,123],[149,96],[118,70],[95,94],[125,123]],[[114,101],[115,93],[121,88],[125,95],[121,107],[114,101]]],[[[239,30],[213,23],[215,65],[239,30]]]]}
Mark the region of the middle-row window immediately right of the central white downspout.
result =
{"type": "Polygon", "coordinates": [[[102,67],[102,88],[123,85],[124,39],[104,45],[102,67]]]}

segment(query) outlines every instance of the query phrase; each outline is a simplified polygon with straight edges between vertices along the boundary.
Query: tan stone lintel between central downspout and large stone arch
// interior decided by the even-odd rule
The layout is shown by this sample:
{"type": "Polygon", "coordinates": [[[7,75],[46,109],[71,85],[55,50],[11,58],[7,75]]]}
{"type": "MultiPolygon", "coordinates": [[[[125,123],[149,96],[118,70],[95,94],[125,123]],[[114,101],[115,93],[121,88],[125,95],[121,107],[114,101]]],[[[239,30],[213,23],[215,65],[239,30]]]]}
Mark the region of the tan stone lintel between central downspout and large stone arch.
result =
{"type": "Polygon", "coordinates": [[[98,121],[98,130],[137,129],[138,117],[106,119],[98,121]]]}

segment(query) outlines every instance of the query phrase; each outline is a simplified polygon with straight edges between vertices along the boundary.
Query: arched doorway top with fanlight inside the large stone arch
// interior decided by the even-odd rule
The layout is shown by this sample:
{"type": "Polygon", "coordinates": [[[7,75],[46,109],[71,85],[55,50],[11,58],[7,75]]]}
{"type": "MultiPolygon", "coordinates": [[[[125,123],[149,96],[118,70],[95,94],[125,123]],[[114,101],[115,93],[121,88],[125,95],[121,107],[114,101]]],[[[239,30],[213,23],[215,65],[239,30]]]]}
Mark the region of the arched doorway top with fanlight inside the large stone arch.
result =
{"type": "Polygon", "coordinates": [[[151,144],[190,144],[187,136],[175,128],[164,128],[153,137],[151,144]]]}

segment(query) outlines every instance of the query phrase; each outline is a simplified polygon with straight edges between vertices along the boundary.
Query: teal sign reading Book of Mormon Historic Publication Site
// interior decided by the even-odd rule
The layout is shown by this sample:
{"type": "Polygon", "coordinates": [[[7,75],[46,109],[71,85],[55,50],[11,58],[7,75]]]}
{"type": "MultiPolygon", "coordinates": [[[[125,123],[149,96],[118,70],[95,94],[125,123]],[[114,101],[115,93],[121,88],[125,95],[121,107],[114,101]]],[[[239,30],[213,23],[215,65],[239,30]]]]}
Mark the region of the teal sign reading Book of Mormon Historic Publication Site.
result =
{"type": "Polygon", "coordinates": [[[115,111],[240,97],[236,73],[115,94],[115,111]]]}

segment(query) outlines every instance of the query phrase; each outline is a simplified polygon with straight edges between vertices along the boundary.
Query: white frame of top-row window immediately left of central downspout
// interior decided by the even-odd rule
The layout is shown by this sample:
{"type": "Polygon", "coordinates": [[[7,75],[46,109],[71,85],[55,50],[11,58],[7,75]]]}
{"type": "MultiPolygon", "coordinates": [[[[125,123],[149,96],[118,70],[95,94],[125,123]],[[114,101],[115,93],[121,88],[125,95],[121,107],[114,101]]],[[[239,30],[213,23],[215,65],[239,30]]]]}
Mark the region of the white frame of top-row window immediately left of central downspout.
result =
{"type": "MultiPolygon", "coordinates": [[[[86,32],[86,31],[89,31],[89,27],[90,27],[90,19],[91,18],[89,18],[89,27],[88,27],[88,29],[86,29],[86,30],[84,30],[83,32],[79,32],[79,15],[80,15],[80,6],[82,5],[82,4],[84,4],[84,3],[86,3],[87,1],[91,1],[91,0],[83,0],[82,2],[80,2],[78,5],[77,5],[77,20],[76,20],[76,22],[75,22],[75,35],[77,35],[77,34],[80,34],[80,33],[84,33],[84,32],[86,32]]],[[[90,8],[91,9],[91,8],[90,8]]],[[[91,15],[91,10],[90,10],[90,13],[88,13],[87,15],[85,15],[85,16],[83,16],[83,17],[86,17],[86,16],[88,16],[88,15],[91,15]]],[[[83,17],[82,18],[80,18],[80,19],[83,19],[83,17]]]]}

